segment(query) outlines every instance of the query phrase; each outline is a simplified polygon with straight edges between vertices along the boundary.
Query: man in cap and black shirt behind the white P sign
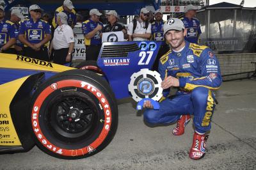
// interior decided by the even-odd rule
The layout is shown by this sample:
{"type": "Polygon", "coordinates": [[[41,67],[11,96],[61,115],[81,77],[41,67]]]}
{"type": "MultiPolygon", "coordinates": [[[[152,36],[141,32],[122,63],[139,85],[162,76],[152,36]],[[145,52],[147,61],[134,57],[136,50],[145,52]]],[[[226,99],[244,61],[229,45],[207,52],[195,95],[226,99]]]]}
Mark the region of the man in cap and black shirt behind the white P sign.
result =
{"type": "Polygon", "coordinates": [[[127,31],[124,24],[118,22],[118,15],[115,10],[110,10],[106,13],[108,18],[108,24],[102,29],[102,33],[109,33],[115,31],[123,31],[124,38],[127,39],[127,31]]]}

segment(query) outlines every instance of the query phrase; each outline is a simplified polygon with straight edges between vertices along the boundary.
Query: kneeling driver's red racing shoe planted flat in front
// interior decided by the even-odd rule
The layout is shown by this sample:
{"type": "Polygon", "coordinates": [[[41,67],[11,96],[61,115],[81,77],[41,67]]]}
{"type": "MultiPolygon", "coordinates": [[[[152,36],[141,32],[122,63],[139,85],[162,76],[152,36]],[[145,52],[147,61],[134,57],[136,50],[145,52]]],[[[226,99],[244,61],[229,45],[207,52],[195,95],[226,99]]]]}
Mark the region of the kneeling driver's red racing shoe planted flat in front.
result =
{"type": "Polygon", "coordinates": [[[189,151],[189,158],[198,160],[203,158],[205,155],[205,143],[208,139],[208,135],[205,134],[197,134],[195,132],[193,137],[193,144],[189,151]]]}

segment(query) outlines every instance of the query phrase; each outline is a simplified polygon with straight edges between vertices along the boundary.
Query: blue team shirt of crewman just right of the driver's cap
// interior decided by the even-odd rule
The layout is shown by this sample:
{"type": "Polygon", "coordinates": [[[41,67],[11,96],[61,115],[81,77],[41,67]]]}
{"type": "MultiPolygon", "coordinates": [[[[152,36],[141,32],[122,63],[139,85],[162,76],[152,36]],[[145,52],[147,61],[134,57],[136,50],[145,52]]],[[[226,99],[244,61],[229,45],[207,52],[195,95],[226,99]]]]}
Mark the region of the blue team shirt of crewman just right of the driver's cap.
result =
{"type": "Polygon", "coordinates": [[[202,33],[199,20],[195,18],[189,20],[187,17],[180,20],[182,20],[185,28],[187,28],[185,40],[191,43],[198,43],[198,36],[202,33]]]}

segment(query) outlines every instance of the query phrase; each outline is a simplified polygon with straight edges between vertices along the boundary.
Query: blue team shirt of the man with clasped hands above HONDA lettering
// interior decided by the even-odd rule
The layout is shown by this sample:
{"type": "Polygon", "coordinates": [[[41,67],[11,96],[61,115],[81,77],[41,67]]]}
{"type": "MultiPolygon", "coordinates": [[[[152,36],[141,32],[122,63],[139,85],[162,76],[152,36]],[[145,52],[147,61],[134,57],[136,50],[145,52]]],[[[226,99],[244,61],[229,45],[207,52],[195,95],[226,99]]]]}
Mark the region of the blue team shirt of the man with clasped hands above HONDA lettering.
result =
{"type": "Polygon", "coordinates": [[[20,23],[19,35],[25,35],[29,43],[40,43],[46,34],[51,35],[51,28],[45,20],[39,19],[34,22],[33,19],[27,19],[20,23]]]}

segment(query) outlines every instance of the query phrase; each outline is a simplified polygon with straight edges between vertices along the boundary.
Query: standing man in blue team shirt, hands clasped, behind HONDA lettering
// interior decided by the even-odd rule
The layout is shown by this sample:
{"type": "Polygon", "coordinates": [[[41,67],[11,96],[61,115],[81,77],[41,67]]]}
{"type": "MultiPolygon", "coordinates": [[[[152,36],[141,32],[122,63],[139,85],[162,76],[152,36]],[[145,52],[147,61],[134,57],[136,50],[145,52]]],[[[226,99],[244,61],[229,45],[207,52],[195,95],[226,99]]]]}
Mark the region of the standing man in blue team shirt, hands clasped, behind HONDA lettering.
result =
{"type": "Polygon", "coordinates": [[[51,40],[49,24],[41,20],[42,9],[37,4],[29,6],[31,18],[20,23],[19,40],[24,43],[24,54],[27,57],[49,61],[48,49],[45,46],[51,40]]]}

